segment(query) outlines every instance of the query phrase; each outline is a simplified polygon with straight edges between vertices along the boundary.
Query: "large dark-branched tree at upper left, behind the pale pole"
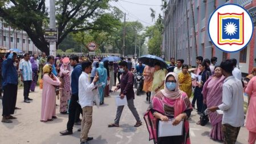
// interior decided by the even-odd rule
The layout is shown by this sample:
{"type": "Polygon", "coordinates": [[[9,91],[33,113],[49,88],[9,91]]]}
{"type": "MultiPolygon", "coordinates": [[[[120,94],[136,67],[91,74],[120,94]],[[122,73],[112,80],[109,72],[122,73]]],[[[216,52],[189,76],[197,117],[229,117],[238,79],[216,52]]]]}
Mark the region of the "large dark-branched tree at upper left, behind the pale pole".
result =
{"type": "MultiPolygon", "coordinates": [[[[71,32],[105,30],[111,27],[109,11],[111,0],[56,0],[56,26],[58,42],[71,32]],[[103,19],[108,18],[104,21],[103,19]],[[89,20],[90,19],[90,20],[89,20]]],[[[49,43],[44,38],[43,27],[48,27],[45,0],[2,0],[0,17],[11,26],[24,30],[39,50],[49,54],[49,43]]]]}

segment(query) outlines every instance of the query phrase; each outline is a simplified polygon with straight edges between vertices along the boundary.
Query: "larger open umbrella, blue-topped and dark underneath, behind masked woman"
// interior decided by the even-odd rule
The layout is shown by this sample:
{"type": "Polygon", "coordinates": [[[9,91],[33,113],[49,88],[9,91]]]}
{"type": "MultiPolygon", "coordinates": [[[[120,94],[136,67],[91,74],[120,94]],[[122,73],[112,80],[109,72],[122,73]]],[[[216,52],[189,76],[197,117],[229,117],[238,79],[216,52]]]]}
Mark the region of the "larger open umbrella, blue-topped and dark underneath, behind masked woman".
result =
{"type": "Polygon", "coordinates": [[[155,67],[155,63],[160,63],[161,68],[167,68],[168,65],[165,63],[165,61],[158,56],[153,56],[153,55],[144,55],[139,57],[139,61],[141,63],[148,65],[149,67],[155,67]]]}

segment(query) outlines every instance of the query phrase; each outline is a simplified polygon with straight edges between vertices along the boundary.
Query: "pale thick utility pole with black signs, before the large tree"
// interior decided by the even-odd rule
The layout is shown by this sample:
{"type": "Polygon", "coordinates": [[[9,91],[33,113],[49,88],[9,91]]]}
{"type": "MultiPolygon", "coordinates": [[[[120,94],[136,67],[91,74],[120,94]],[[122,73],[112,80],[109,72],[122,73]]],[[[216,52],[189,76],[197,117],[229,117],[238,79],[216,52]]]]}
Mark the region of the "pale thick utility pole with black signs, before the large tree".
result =
{"type": "MultiPolygon", "coordinates": [[[[50,1],[50,28],[56,28],[55,20],[55,0],[50,1]]],[[[56,42],[50,42],[50,55],[56,56],[56,42]]]]}

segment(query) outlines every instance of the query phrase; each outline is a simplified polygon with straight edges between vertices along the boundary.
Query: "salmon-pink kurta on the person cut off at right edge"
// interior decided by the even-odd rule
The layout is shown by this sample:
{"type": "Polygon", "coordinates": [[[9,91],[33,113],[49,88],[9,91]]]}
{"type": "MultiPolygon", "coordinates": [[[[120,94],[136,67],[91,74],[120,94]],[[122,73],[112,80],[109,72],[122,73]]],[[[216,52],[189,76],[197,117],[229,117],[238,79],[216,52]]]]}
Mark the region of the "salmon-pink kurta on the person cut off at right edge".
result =
{"type": "Polygon", "coordinates": [[[256,133],[256,76],[248,83],[245,92],[250,96],[250,103],[247,110],[246,128],[256,133]]]}

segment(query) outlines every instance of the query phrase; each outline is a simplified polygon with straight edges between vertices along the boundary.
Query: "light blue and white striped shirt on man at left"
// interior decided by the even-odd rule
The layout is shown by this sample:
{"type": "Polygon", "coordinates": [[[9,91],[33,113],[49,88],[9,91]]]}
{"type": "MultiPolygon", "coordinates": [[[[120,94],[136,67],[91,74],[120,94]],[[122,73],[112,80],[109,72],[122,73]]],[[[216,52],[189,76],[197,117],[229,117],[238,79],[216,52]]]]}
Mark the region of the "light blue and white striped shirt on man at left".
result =
{"type": "Polygon", "coordinates": [[[22,70],[23,81],[32,80],[32,66],[30,61],[22,61],[21,64],[19,64],[19,69],[22,70]]]}

